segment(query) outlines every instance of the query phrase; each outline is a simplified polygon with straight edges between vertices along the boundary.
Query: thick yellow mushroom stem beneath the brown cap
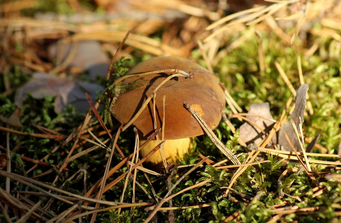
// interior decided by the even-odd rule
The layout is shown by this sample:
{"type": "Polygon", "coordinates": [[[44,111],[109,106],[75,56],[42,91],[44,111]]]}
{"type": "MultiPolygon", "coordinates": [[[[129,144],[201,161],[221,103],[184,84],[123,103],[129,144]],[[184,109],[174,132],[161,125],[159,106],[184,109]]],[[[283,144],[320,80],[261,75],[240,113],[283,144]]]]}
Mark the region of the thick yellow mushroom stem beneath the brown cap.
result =
{"type": "MultiPolygon", "coordinates": [[[[165,157],[167,163],[169,162],[176,162],[179,158],[182,159],[183,156],[188,153],[193,145],[194,138],[182,138],[182,139],[172,139],[166,140],[163,144],[165,149],[165,157]]],[[[140,140],[140,145],[142,145],[146,140],[140,140]]],[[[159,143],[161,140],[159,140],[159,143]]],[[[156,139],[151,140],[145,147],[143,147],[139,154],[141,157],[145,157],[155,146],[159,144],[156,139]]],[[[161,148],[159,151],[155,152],[151,157],[147,159],[146,162],[152,165],[160,165],[162,163],[162,158],[160,154],[161,148]]]]}

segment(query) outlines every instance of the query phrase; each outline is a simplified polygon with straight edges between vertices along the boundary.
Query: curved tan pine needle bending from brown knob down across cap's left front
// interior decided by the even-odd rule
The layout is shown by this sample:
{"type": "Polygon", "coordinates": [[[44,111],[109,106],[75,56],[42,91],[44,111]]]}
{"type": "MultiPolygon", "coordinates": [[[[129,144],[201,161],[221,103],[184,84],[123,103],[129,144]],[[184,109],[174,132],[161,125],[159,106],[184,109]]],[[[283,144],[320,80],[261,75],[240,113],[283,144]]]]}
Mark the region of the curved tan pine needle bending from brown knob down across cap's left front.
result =
{"type": "MultiPolygon", "coordinates": [[[[136,113],[136,115],[130,119],[130,121],[124,125],[122,131],[126,130],[137,118],[138,116],[143,112],[143,110],[147,107],[148,103],[150,102],[150,100],[152,99],[153,95],[155,94],[155,92],[157,90],[159,90],[159,88],[164,85],[168,80],[172,79],[173,77],[178,77],[178,76],[182,76],[184,78],[190,78],[190,79],[194,79],[194,74],[192,74],[191,72],[184,72],[185,74],[183,74],[182,72],[180,72],[179,70],[176,69],[172,69],[174,70],[173,72],[175,72],[176,74],[170,75],[168,76],[166,79],[164,79],[155,89],[154,91],[148,96],[148,98],[146,99],[146,101],[143,103],[143,105],[141,106],[141,108],[138,110],[138,112],[136,113]]],[[[165,70],[163,72],[171,72],[171,70],[165,70]]],[[[163,73],[161,72],[161,73],[163,73]]],[[[154,72],[155,73],[155,72],[154,72]]],[[[127,75],[126,75],[127,76],[127,75]]]]}

